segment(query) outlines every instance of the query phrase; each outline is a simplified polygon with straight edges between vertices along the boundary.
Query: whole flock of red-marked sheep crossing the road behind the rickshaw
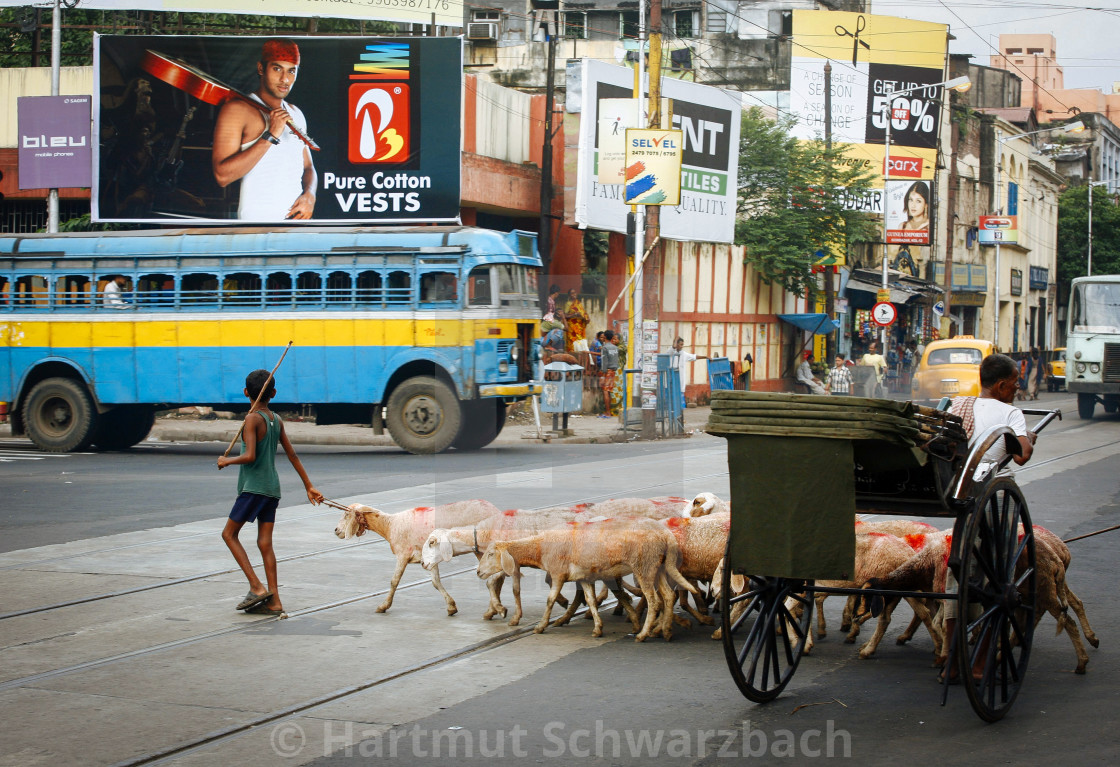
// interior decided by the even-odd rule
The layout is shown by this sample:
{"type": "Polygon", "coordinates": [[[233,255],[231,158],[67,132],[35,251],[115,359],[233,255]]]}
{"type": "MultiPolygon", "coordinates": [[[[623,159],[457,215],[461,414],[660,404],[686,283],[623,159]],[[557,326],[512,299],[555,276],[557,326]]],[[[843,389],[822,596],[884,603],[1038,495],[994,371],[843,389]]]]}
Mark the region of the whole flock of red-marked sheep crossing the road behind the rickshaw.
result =
{"type": "MultiPolygon", "coordinates": [[[[598,504],[579,504],[543,509],[502,511],[487,501],[463,501],[441,506],[420,506],[396,514],[386,514],[370,506],[352,504],[343,512],[335,527],[340,539],[362,535],[371,530],[389,542],[396,556],[396,567],[385,601],[377,607],[384,612],[393,604],[393,595],[404,569],[422,564],[432,584],[447,601],[447,614],[458,611],[455,600],[439,579],[439,564],[461,554],[477,558],[478,577],[489,590],[489,606],[484,619],[506,617],[501,590],[506,578],[512,581],[514,612],[511,626],[522,617],[521,570],[534,568],[547,573],[551,583],[544,614],[534,632],[549,625],[557,604],[567,611],[551,625],[564,625],[576,609],[586,604],[595,621],[594,636],[601,636],[603,620],[598,605],[605,592],[596,593],[597,581],[606,582],[618,599],[618,609],[626,611],[636,639],[651,636],[670,639],[673,623],[691,626],[691,621],[674,612],[675,605],[712,625],[708,601],[701,592],[711,584],[709,597],[717,592],[720,569],[730,529],[730,509],[711,493],[701,493],[688,501],[678,497],[622,498],[598,504]],[[631,576],[634,584],[623,580],[631,576]],[[568,581],[578,586],[570,602],[560,593],[568,581]],[[635,604],[629,595],[640,597],[635,604]],[[689,604],[689,596],[693,605],[689,604]],[[642,612],[645,612],[644,621],[642,612]]],[[[951,531],[908,520],[866,522],[856,520],[856,571],[850,581],[821,581],[821,586],[898,589],[906,591],[944,591],[951,546],[951,531]]],[[[1058,633],[1065,630],[1077,655],[1076,673],[1085,673],[1089,655],[1081,643],[1077,623],[1093,647],[1099,642],[1085,617],[1082,601],[1066,583],[1071,555],[1065,543],[1054,533],[1035,526],[1038,570],[1037,620],[1049,612],[1057,620],[1058,633]],[[1074,621],[1068,610],[1077,617],[1074,621]]],[[[741,591],[745,579],[731,579],[732,591],[741,591]]],[[[818,635],[825,635],[821,602],[816,596],[818,635]]],[[[870,657],[890,623],[898,599],[888,599],[878,611],[875,634],[859,651],[870,657]]],[[[934,644],[936,663],[944,661],[944,640],[939,600],[906,600],[914,610],[909,627],[898,637],[898,644],[911,639],[918,625],[925,625],[934,644]]],[[[871,617],[862,610],[852,615],[857,600],[849,599],[842,630],[849,630],[846,642],[853,643],[860,625],[871,617]]],[[[740,602],[737,607],[740,607],[740,602]]],[[[736,614],[732,612],[732,620],[736,614]]],[[[712,638],[720,638],[719,630],[712,638]]],[[[812,648],[810,634],[806,653],[812,648]]]]}

